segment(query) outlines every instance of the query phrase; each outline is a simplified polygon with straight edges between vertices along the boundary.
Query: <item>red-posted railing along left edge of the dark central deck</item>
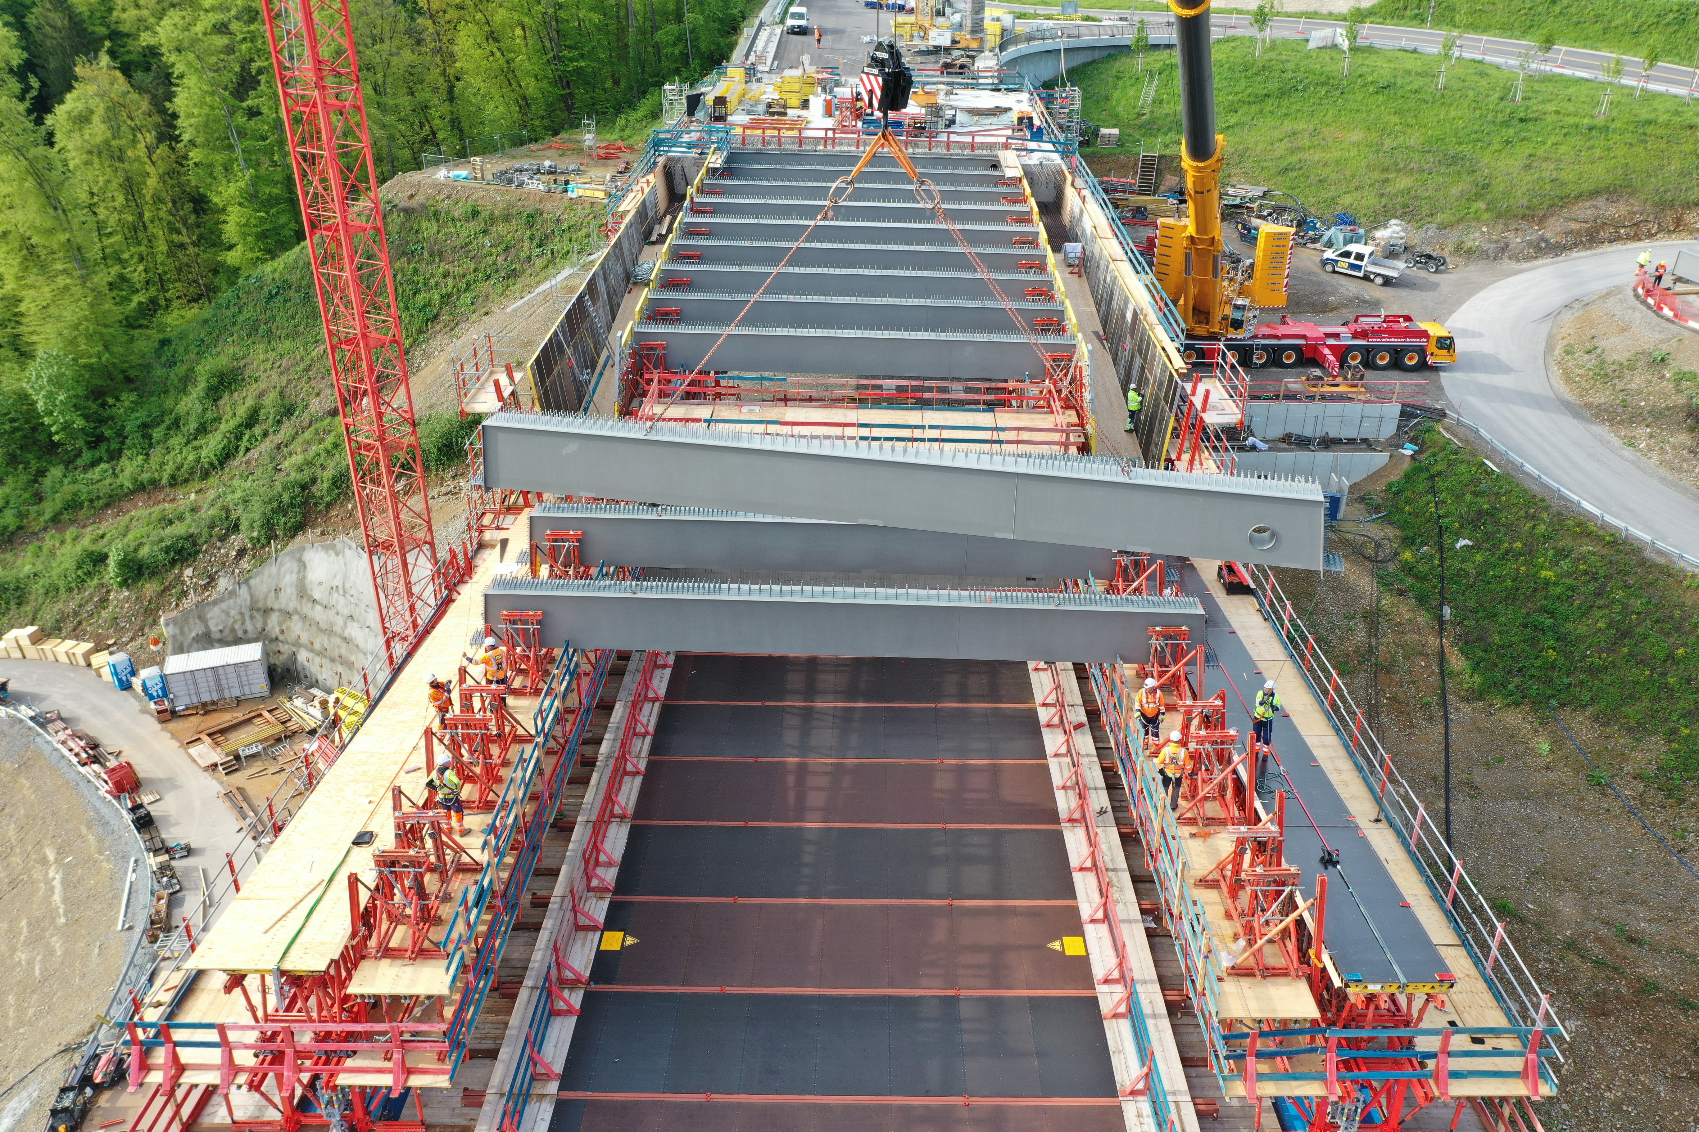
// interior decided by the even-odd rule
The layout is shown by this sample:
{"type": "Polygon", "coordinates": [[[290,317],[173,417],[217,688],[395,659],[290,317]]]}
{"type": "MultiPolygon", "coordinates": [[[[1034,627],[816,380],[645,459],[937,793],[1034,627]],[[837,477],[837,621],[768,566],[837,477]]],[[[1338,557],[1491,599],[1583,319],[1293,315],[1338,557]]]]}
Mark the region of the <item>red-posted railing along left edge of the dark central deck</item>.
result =
{"type": "MultiPolygon", "coordinates": [[[[612,658],[612,653],[607,655],[612,658]]],[[[554,1074],[552,1066],[542,1059],[539,1045],[547,1040],[554,1018],[579,1013],[579,1006],[571,1001],[569,991],[590,986],[588,967],[579,971],[569,962],[573,939],[579,932],[595,932],[600,935],[603,930],[603,922],[591,913],[590,903],[613,891],[613,879],[612,876],[605,876],[605,871],[617,869],[618,857],[613,855],[608,837],[615,823],[630,821],[632,818],[629,803],[622,794],[630,779],[644,774],[637,745],[654,735],[654,715],[664,699],[664,692],[656,684],[656,672],[671,667],[671,664],[666,653],[652,650],[642,653],[642,667],[637,670],[632,698],[625,706],[625,718],[620,723],[613,759],[601,781],[601,796],[595,803],[596,810],[590,820],[588,835],[578,859],[567,860],[564,866],[571,871],[567,879],[567,908],[561,910],[564,913],[562,925],[561,932],[554,937],[545,976],[545,993],[537,996],[532,1013],[527,1018],[525,1052],[515,1059],[513,1074],[503,1090],[501,1118],[496,1125],[498,1132],[516,1132],[530,1105],[532,1086],[539,1073],[554,1074]]],[[[593,703],[590,701],[591,706],[593,703]]],[[[576,750],[576,745],[567,750],[576,750]]],[[[562,755],[561,762],[569,764],[574,760],[562,755]]],[[[583,828],[583,813],[578,821],[579,828],[583,828]]]]}

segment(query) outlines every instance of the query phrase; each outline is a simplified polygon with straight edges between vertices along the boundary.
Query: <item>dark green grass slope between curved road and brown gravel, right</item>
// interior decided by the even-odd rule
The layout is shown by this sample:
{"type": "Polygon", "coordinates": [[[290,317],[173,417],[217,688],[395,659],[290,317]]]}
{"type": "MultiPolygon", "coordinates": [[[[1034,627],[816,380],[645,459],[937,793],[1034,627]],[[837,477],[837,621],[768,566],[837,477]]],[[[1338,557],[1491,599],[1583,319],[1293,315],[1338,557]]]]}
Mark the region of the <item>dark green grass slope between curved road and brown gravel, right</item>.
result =
{"type": "Polygon", "coordinates": [[[1470,687],[1512,704],[1587,708],[1667,750],[1646,772],[1699,781],[1699,577],[1570,518],[1429,428],[1381,501],[1405,548],[1390,579],[1439,606],[1432,470],[1444,519],[1448,642],[1470,687]],[[1454,546],[1459,540],[1471,546],[1454,546]]]}

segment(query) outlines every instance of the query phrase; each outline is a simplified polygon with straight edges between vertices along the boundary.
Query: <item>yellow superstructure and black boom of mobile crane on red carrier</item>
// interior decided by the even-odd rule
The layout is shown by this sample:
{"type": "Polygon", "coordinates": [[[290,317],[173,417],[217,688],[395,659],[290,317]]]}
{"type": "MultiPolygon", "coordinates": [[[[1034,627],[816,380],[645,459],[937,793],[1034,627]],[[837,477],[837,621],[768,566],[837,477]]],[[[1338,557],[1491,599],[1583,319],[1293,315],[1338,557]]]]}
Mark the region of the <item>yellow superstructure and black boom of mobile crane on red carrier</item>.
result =
{"type": "Polygon", "coordinates": [[[1222,161],[1227,139],[1215,132],[1215,68],[1210,61],[1210,0],[1167,0],[1174,12],[1186,171],[1184,221],[1157,224],[1155,275],[1179,309],[1188,338],[1240,338],[1256,307],[1284,307],[1293,229],[1267,224],[1254,260],[1223,273],[1222,161]]]}

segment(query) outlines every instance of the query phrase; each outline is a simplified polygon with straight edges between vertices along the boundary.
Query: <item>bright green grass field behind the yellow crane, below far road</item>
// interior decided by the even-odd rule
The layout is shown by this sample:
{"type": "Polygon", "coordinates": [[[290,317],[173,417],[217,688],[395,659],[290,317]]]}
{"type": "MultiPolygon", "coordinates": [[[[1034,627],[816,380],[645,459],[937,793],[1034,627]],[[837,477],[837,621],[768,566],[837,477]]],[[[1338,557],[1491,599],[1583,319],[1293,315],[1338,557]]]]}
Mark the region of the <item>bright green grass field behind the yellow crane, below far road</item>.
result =
{"type": "MultiPolygon", "coordinates": [[[[1125,154],[1143,143],[1179,149],[1179,83],[1172,51],[1145,56],[1157,78],[1138,114],[1143,75],[1133,56],[1070,70],[1086,117],[1121,129],[1125,154]]],[[[1631,195],[1648,205],[1699,202],[1692,170],[1646,154],[1699,151],[1699,114],[1667,97],[1621,93],[1599,119],[1599,85],[1541,76],[1509,102],[1514,76],[1459,63],[1434,90],[1434,56],[1361,49],[1351,76],[1337,51],[1276,41],[1262,59],[1250,39],[1215,44],[1215,104],[1227,136],[1228,182],[1273,185],[1312,212],[1415,226],[1541,216],[1573,200],[1631,195]]],[[[1684,158],[1691,165],[1691,156],[1684,158]]]]}

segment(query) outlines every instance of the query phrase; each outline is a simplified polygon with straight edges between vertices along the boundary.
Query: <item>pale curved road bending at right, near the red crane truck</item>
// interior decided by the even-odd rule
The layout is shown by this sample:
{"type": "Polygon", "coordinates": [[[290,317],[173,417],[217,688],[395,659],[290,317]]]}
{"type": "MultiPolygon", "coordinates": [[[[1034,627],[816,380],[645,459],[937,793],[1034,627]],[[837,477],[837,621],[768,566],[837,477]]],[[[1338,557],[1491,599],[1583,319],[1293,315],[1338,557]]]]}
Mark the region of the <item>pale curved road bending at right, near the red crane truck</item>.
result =
{"type": "MultiPolygon", "coordinates": [[[[1458,363],[1444,373],[1446,397],[1551,482],[1699,557],[1699,492],[1624,448],[1546,372],[1546,338],[1558,312],[1612,285],[1628,287],[1645,246],[1548,260],[1476,292],[1446,319],[1458,338],[1458,363]]],[[[1699,244],[1651,248],[1653,258],[1674,258],[1675,248],[1699,244]]]]}

